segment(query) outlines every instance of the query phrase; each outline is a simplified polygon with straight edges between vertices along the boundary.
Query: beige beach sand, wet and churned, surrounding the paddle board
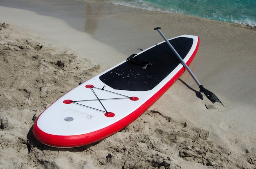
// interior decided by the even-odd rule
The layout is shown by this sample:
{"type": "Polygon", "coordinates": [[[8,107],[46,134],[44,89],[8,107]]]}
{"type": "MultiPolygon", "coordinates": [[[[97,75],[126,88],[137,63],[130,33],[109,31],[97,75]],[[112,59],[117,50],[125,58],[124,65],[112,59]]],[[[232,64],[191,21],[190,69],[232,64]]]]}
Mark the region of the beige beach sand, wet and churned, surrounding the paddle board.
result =
{"type": "Polygon", "coordinates": [[[106,3],[30,3],[0,6],[0,168],[256,168],[255,29],[106,3]],[[161,42],[154,27],[168,38],[200,37],[190,68],[225,107],[197,98],[185,72],[137,120],[100,142],[59,149],[34,138],[34,121],[52,102],[161,42]]]}

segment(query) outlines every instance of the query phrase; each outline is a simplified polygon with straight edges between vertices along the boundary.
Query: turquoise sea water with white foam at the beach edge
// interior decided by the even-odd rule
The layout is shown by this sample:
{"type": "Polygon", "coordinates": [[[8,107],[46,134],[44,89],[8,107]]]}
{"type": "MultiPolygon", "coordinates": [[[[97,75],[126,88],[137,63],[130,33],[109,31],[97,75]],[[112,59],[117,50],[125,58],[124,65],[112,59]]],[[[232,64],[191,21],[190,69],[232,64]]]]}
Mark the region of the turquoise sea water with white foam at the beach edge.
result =
{"type": "Polygon", "coordinates": [[[256,0],[107,0],[112,4],[161,11],[184,13],[200,18],[256,26],[256,0]]]}

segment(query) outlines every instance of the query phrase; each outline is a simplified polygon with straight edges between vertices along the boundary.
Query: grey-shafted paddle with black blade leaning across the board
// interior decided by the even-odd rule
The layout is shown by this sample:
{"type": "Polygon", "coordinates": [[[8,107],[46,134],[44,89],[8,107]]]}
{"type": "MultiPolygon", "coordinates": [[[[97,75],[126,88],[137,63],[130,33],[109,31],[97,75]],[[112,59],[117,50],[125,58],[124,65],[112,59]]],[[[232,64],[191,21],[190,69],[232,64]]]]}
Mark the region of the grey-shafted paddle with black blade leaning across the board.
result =
{"type": "MultiPolygon", "coordinates": [[[[189,66],[184,62],[184,60],[180,57],[179,53],[174,49],[174,47],[171,45],[171,43],[166,39],[166,37],[164,36],[164,34],[160,31],[160,27],[156,27],[154,30],[157,30],[160,35],[164,38],[165,42],[169,45],[169,47],[173,50],[173,52],[175,53],[175,55],[177,56],[177,58],[180,60],[181,64],[189,71],[190,75],[192,76],[192,78],[195,80],[195,82],[197,83],[197,85],[200,88],[200,92],[203,92],[205,94],[205,96],[211,100],[212,103],[215,102],[220,102],[222,104],[222,102],[217,98],[217,96],[212,93],[211,91],[205,89],[203,87],[203,85],[201,85],[201,83],[198,81],[198,79],[195,77],[195,75],[193,74],[193,72],[189,69],[189,66]]],[[[223,104],[222,104],[223,105],[223,104]]],[[[224,106],[224,105],[223,105],[224,106]]]]}

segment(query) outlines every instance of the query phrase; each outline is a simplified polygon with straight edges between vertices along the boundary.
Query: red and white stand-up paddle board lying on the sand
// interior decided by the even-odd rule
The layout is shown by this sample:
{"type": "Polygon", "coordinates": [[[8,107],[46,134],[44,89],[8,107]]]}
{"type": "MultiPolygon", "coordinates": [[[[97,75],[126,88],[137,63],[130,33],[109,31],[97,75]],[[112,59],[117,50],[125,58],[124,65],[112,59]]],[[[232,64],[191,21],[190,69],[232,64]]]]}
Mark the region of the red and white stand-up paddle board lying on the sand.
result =
{"type": "MultiPolygon", "coordinates": [[[[199,46],[197,36],[168,40],[186,64],[199,46]]],[[[182,75],[185,68],[166,42],[160,42],[71,90],[36,119],[33,134],[52,147],[97,142],[136,120],[182,75]]]]}

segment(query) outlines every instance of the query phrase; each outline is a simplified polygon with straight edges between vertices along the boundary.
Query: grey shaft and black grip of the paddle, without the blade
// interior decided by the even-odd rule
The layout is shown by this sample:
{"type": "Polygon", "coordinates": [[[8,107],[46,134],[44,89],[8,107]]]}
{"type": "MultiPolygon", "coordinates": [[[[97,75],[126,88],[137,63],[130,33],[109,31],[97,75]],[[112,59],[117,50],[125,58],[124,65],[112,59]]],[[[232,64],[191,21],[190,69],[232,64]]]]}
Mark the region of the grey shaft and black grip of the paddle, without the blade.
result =
{"type": "Polygon", "coordinates": [[[165,42],[169,45],[169,47],[173,50],[173,52],[176,54],[176,56],[179,58],[181,64],[189,71],[192,78],[195,80],[195,82],[198,84],[198,86],[202,86],[201,83],[198,81],[198,79],[195,77],[194,73],[190,70],[189,66],[184,62],[184,60],[180,57],[180,54],[174,49],[173,45],[166,39],[164,34],[160,31],[160,27],[154,28],[154,30],[157,30],[160,35],[164,38],[165,42]]]}

